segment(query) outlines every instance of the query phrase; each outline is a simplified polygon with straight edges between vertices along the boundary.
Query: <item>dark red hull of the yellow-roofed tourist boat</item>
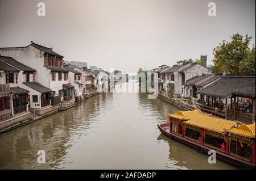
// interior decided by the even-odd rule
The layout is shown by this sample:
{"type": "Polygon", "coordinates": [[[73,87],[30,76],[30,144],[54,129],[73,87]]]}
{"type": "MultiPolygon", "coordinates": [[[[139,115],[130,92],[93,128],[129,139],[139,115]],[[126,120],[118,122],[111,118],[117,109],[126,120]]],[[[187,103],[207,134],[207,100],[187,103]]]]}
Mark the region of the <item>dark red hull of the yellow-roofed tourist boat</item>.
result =
{"type": "MultiPolygon", "coordinates": [[[[160,130],[160,132],[164,135],[166,135],[169,138],[172,138],[176,141],[182,142],[185,145],[190,146],[191,148],[196,149],[197,151],[199,151],[200,153],[205,153],[208,154],[209,150],[213,150],[212,148],[209,148],[208,146],[202,146],[200,144],[198,144],[195,141],[191,141],[188,140],[187,138],[183,138],[175,133],[169,133],[165,130],[165,128],[168,128],[169,124],[158,124],[158,128],[160,130]]],[[[230,163],[231,165],[234,165],[236,167],[239,167],[241,169],[255,169],[255,164],[253,163],[249,163],[244,161],[243,159],[237,158],[237,157],[233,157],[232,155],[227,155],[225,153],[222,153],[221,151],[215,150],[216,151],[216,158],[220,159],[221,161],[230,163]]]]}

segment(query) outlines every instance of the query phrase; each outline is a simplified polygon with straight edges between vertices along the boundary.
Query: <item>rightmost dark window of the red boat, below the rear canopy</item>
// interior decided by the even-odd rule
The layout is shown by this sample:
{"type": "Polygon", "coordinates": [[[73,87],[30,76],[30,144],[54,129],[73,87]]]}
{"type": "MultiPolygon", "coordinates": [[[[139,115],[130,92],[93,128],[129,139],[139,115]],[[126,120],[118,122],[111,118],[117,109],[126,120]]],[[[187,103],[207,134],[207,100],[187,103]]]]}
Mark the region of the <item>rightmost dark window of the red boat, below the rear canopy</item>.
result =
{"type": "Polygon", "coordinates": [[[230,142],[230,153],[240,155],[245,158],[251,159],[253,157],[253,149],[251,145],[245,142],[232,140],[230,142]]]}

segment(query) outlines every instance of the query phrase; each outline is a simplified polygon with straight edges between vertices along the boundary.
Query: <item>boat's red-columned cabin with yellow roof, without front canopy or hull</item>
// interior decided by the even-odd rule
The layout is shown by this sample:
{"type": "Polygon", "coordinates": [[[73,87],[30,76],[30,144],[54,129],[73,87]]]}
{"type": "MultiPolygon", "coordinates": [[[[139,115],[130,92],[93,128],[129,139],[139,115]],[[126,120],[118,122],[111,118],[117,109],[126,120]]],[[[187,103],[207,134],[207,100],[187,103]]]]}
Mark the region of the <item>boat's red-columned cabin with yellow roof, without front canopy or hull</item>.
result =
{"type": "Polygon", "coordinates": [[[255,164],[255,124],[205,115],[193,116],[183,124],[183,138],[255,164]]]}

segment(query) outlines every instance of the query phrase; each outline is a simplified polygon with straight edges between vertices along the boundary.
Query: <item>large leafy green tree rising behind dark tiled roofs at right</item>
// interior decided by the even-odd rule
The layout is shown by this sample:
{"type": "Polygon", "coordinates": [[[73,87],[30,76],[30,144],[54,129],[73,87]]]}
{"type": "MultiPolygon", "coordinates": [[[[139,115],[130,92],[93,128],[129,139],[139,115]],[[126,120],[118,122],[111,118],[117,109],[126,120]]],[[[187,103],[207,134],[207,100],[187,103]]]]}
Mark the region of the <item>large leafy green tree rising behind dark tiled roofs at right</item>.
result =
{"type": "Polygon", "coordinates": [[[255,46],[249,48],[250,40],[236,33],[231,41],[223,40],[213,49],[213,72],[229,74],[255,73],[255,46]]]}

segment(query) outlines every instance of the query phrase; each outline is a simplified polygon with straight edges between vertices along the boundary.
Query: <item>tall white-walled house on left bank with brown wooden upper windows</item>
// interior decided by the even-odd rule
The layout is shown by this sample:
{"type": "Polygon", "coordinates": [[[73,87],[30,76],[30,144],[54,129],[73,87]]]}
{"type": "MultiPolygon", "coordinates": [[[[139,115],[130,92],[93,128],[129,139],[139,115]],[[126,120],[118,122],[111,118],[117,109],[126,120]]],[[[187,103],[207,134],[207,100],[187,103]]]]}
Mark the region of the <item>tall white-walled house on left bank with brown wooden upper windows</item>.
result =
{"type": "MultiPolygon", "coordinates": [[[[63,56],[53,52],[52,48],[31,41],[27,47],[0,48],[0,54],[11,56],[35,69],[36,81],[53,91],[52,106],[59,105],[61,100],[64,101],[64,107],[75,104],[72,96],[74,87],[68,82],[68,70],[62,67],[63,56]]],[[[44,96],[42,99],[50,98],[44,96]]],[[[58,109],[58,107],[52,107],[50,110],[53,111],[53,109],[58,109]]]]}

